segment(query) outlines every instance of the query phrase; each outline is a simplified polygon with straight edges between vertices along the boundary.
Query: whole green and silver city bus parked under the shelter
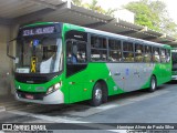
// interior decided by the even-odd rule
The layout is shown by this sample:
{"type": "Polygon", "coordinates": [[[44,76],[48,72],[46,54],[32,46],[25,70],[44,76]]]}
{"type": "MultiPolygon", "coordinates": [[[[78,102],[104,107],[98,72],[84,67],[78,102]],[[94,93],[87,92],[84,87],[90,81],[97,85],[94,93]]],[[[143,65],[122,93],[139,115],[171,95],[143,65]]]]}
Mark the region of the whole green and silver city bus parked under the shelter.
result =
{"type": "Polygon", "coordinates": [[[42,22],[19,29],[14,59],[15,98],[69,104],[171,80],[170,47],[69,23],[42,22]]]}

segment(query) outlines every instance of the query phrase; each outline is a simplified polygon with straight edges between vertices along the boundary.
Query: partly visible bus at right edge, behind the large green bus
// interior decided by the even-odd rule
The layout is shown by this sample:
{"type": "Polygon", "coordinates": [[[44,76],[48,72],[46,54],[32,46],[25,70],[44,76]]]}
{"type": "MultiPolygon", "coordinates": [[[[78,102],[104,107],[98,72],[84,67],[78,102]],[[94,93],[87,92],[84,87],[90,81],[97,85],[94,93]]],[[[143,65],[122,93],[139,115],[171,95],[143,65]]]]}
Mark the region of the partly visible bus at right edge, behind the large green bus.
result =
{"type": "Polygon", "coordinates": [[[173,61],[173,76],[171,76],[171,80],[177,80],[177,48],[171,49],[171,61],[173,61]]]}

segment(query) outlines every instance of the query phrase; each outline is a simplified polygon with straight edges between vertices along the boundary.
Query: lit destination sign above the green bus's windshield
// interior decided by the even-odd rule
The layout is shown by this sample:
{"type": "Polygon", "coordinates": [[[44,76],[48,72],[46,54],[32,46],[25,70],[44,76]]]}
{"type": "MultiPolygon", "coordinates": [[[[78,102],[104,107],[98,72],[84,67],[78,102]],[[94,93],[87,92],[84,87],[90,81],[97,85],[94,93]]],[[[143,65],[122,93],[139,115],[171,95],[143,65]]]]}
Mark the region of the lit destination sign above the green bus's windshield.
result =
{"type": "Polygon", "coordinates": [[[29,37],[29,35],[40,35],[40,34],[54,33],[55,32],[54,30],[55,30],[54,25],[25,29],[22,31],[22,35],[29,37]]]}

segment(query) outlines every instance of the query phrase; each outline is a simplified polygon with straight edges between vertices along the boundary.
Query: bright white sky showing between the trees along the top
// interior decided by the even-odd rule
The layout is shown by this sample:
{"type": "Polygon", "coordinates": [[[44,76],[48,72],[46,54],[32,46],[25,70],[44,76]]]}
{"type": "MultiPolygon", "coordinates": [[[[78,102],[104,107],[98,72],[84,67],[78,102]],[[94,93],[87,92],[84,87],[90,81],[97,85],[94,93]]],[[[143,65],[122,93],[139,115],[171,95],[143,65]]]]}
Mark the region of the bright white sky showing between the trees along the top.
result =
{"type": "MultiPolygon", "coordinates": [[[[84,2],[91,2],[92,0],[83,0],[84,2]]],[[[104,9],[108,8],[121,8],[123,4],[126,4],[131,1],[138,1],[138,0],[97,0],[98,4],[104,9]]],[[[169,17],[177,23],[177,7],[176,0],[162,0],[166,3],[166,9],[169,13],[169,17]]]]}

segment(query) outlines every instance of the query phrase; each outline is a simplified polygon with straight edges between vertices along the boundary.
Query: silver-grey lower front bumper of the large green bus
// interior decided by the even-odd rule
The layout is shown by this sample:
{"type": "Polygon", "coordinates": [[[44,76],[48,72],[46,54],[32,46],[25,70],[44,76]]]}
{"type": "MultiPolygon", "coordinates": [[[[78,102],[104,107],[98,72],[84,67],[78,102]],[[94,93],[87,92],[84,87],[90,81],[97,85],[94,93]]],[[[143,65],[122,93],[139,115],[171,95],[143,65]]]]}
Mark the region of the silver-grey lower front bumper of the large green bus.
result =
{"type": "Polygon", "coordinates": [[[15,93],[15,99],[22,102],[32,102],[32,103],[39,103],[39,104],[62,104],[64,103],[64,94],[60,90],[56,90],[51,94],[44,95],[42,100],[31,100],[31,99],[21,98],[19,96],[18,93],[15,93]]]}

